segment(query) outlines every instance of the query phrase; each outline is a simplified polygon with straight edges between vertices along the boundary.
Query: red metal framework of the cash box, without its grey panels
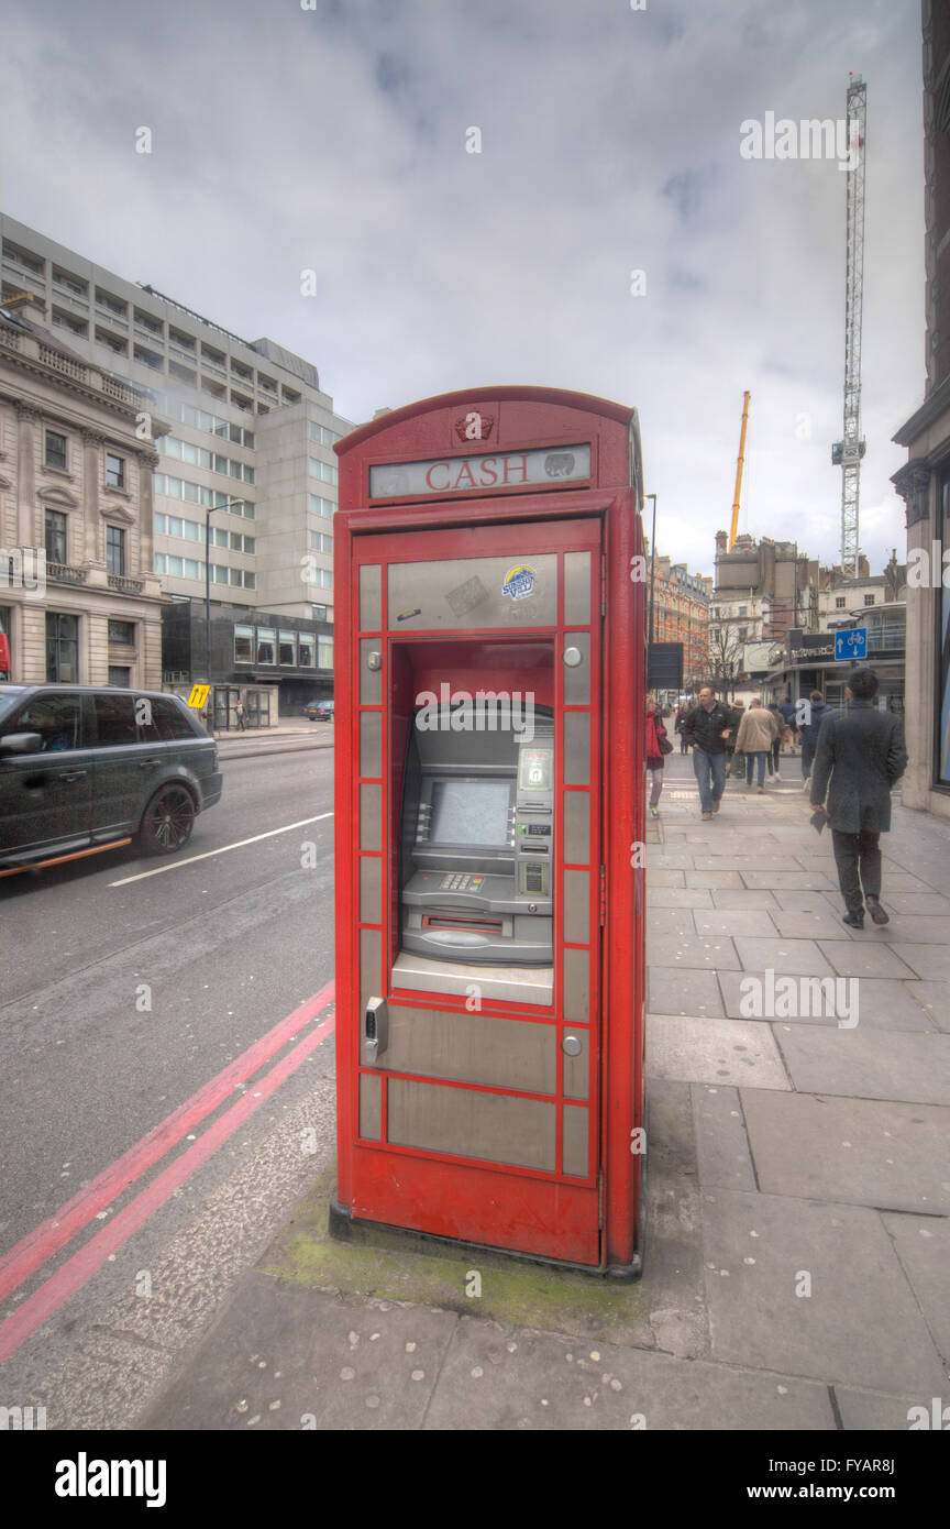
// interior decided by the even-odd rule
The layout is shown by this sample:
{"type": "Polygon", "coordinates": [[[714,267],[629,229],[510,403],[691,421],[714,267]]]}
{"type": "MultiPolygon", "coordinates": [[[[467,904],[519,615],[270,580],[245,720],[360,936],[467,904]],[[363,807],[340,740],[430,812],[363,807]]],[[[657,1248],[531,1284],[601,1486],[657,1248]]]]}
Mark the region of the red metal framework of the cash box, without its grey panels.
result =
{"type": "MultiPolygon", "coordinates": [[[[641,1157],[631,1151],[631,1136],[643,1125],[646,976],[643,870],[634,868],[631,862],[632,846],[645,836],[645,586],[634,578],[632,564],[634,557],[643,553],[635,413],[586,394],[547,388],[478,388],[425,399],[385,414],[345,437],[336,451],[341,462],[341,508],[334,520],[338,1205],[356,1220],[385,1222],[593,1269],[635,1269],[640,1260],[641,1157]],[[487,424],[486,434],[463,440],[460,419],[470,419],[473,411],[483,430],[487,424]],[[593,476],[588,488],[525,486],[492,495],[461,491],[441,498],[368,498],[370,468],[376,463],[443,460],[484,456],[490,450],[512,453],[570,443],[591,445],[593,476]],[[513,650],[518,642],[550,642],[556,656],[565,631],[586,628],[579,624],[565,627],[559,564],[554,625],[525,628],[524,633],[509,628],[466,628],[457,636],[444,631],[393,633],[388,630],[385,605],[385,567],[396,561],[441,557],[530,557],[576,549],[597,549],[597,555],[591,557],[591,703],[590,708],[567,708],[591,711],[591,771],[586,786],[564,787],[590,790],[594,823],[600,824],[600,853],[593,844],[590,864],[590,950],[591,954],[597,951],[599,939],[599,962],[591,960],[588,1099],[571,1101],[564,1096],[561,1046],[556,1047],[553,1095],[449,1079],[438,1079],[438,1086],[554,1101],[556,1165],[562,1162],[564,1109],[571,1107],[571,1102],[590,1107],[586,1179],[388,1144],[386,1073],[382,1069],[364,1069],[359,1060],[359,786],[365,784],[359,775],[359,645],[367,638],[357,625],[359,567],[367,563],[382,566],[380,627],[379,631],[373,630],[373,636],[379,638],[380,650],[385,650],[382,705],[362,703],[362,711],[380,713],[383,774],[379,789],[383,838],[379,850],[362,850],[362,856],[382,859],[383,893],[379,922],[365,922],[362,927],[379,928],[383,954],[382,995],[393,1005],[415,1003],[451,1012],[464,1009],[464,1000],[403,989],[389,992],[386,980],[388,953],[397,936],[397,910],[393,907],[396,842],[393,833],[386,832],[386,823],[396,816],[399,803],[393,803],[396,787],[389,772],[402,768],[400,760],[389,758],[391,719],[386,696],[393,683],[389,676],[394,650],[400,650],[402,665],[408,664],[412,651],[422,665],[431,657],[425,653],[426,644],[431,648],[438,642],[446,661],[455,650],[466,662],[472,661],[480,644],[492,644],[490,662],[504,668],[506,650],[513,650]],[[597,864],[603,865],[605,878],[605,924],[600,930],[597,864]],[[380,1141],[364,1141],[357,1133],[359,1075],[364,1070],[382,1073],[380,1141]]],[[[562,667],[556,661],[551,677],[554,705],[564,714],[562,667]]],[[[481,683],[486,683],[486,677],[481,683]]],[[[561,787],[557,751],[557,815],[561,787]]],[[[559,816],[556,842],[564,842],[559,816]]],[[[556,928],[561,930],[557,907],[556,928]]],[[[561,943],[559,933],[557,942],[561,943]]],[[[588,950],[586,945],[580,948],[588,950]]],[[[554,1023],[561,1035],[567,1021],[561,1011],[559,959],[554,969],[550,1008],[528,1012],[524,1005],[484,1000],[481,1012],[524,1023],[554,1023]]],[[[570,1027],[580,1031],[582,1026],[570,1021],[570,1027]]],[[[432,1081],[414,1073],[399,1076],[432,1081]]]]}

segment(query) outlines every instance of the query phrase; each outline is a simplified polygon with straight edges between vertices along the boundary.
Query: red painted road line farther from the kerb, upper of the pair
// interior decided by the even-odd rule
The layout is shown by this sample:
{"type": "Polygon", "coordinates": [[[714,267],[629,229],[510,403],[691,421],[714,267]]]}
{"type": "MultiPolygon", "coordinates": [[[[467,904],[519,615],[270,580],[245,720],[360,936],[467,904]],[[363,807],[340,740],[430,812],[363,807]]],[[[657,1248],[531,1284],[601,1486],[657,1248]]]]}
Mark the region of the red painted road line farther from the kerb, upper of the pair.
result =
{"type": "MultiPolygon", "coordinates": [[[[159,1157],[163,1157],[171,1147],[180,1142],[192,1125],[197,1125],[218,1104],[223,1104],[238,1083],[243,1083],[258,1067],[263,1067],[292,1035],[316,1018],[321,1009],[325,1009],[333,1001],[334,991],[334,983],[328,982],[312,998],[301,1003],[299,1009],[295,1009],[293,1014],[289,1014],[272,1031],[263,1035],[260,1041],[255,1041],[246,1052],[241,1052],[228,1067],[218,1072],[217,1078],[212,1078],[197,1093],[192,1093],[191,1099],[174,1110],[160,1125],[156,1125],[142,1141],[130,1147],[121,1157],[116,1157],[104,1173],[87,1183],[84,1190],[79,1190],[55,1216],[50,1216],[32,1232],[27,1232],[15,1248],[11,1248],[0,1258],[0,1301],[11,1290],[15,1290],[17,1286],[23,1284],[60,1248],[64,1248],[99,1211],[111,1205],[122,1190],[127,1190],[159,1157]]],[[[295,1053],[292,1052],[292,1055],[295,1053]]]]}

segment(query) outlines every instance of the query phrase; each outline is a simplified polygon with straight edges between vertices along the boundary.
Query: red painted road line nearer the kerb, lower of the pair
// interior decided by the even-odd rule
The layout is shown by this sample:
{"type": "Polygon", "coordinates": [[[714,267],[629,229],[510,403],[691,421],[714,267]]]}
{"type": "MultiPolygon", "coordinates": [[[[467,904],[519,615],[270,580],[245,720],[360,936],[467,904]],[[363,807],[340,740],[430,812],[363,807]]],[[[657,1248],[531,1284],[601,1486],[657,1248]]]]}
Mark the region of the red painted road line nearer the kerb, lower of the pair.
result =
{"type": "MultiPolygon", "coordinates": [[[[298,1009],[299,1012],[299,1009],[298,1009]]],[[[21,1342],[35,1333],[37,1327],[69,1300],[70,1295],[86,1284],[89,1278],[101,1269],[111,1252],[116,1252],[133,1232],[137,1232],[139,1226],[144,1226],[150,1216],[153,1216],[165,1200],[171,1199],[174,1191],[185,1183],[195,1168],[200,1168],[203,1162],[211,1157],[214,1151],[228,1141],[228,1138],[243,1125],[249,1115],[254,1115],[257,1109],[273,1093],[275,1089],[295,1072],[302,1061],[307,1060],[310,1052],[325,1041],[327,1035],[333,1034],[336,1026],[336,1017],[328,1015],[322,1024],[318,1024],[310,1035],[304,1037],[302,1041],[287,1052],[283,1061],[278,1061],[270,1072],[261,1078],[260,1084],[254,1093],[246,1093],[243,1099],[238,1101],[226,1115],[221,1115],[214,1125],[209,1125],[205,1135],[189,1147],[186,1153],[173,1162],[163,1173],[159,1174],[147,1190],[119,1211],[115,1222],[104,1226],[101,1232],[96,1232],[90,1242],[79,1252],[73,1254],[61,1269],[57,1269],[53,1275],[41,1284],[34,1295],[23,1303],[23,1306],[8,1316],[3,1324],[0,1324],[0,1364],[5,1364],[12,1353],[17,1352],[21,1342]]]]}

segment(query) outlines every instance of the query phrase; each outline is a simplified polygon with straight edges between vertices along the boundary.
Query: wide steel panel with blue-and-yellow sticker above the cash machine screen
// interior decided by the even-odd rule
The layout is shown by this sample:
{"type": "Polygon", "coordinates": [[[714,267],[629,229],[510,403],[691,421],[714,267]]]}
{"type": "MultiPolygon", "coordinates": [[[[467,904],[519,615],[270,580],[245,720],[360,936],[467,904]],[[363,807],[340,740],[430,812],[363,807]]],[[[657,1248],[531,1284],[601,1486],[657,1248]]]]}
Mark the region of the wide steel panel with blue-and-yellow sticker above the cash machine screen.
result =
{"type": "Polygon", "coordinates": [[[455,558],[448,563],[391,563],[389,628],[553,627],[557,621],[557,557],[553,552],[507,558],[455,558]],[[528,569],[525,579],[506,579],[528,569]]]}

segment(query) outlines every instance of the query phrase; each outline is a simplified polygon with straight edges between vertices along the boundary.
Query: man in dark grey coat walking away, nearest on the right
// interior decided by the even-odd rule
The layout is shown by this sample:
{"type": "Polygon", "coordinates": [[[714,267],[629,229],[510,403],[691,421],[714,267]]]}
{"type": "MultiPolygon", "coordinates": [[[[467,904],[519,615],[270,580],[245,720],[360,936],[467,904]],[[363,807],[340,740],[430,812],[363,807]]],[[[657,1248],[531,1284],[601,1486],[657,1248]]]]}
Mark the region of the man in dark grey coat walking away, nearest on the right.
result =
{"type": "Polygon", "coordinates": [[[825,717],[811,772],[813,823],[831,824],[845,924],[855,930],[864,928],[864,902],[875,924],[889,922],[878,839],[890,829],[890,789],[907,766],[900,717],[877,709],[877,690],[874,670],[854,670],[845,690],[848,711],[825,717]]]}

